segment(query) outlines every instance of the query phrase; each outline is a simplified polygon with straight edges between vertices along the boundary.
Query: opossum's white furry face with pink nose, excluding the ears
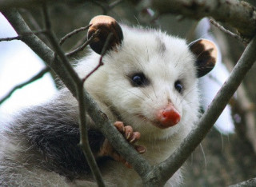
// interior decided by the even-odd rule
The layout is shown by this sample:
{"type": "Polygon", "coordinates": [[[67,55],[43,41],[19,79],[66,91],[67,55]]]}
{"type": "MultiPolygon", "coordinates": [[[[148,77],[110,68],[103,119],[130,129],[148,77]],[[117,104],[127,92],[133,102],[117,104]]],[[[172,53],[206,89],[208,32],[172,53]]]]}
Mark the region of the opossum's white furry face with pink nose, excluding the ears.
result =
{"type": "Polygon", "coordinates": [[[110,109],[142,136],[166,138],[182,125],[190,129],[198,115],[193,54],[181,39],[135,31],[124,32],[122,46],[103,58],[110,109]]]}

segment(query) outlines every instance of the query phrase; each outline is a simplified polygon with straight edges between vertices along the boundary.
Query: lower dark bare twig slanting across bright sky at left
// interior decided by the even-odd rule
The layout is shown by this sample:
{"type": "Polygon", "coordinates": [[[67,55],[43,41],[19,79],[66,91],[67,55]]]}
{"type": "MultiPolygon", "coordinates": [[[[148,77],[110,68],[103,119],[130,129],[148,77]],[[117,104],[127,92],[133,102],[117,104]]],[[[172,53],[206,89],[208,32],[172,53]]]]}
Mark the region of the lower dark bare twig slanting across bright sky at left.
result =
{"type": "Polygon", "coordinates": [[[8,94],[6,94],[5,97],[2,97],[2,99],[0,100],[0,105],[2,105],[2,103],[4,101],[6,101],[12,94],[14,94],[14,92],[16,90],[21,89],[22,87],[29,85],[31,82],[37,81],[39,78],[42,78],[42,76],[44,76],[44,74],[46,74],[49,70],[50,70],[50,68],[46,67],[43,70],[41,70],[38,74],[34,75],[34,77],[30,78],[28,81],[23,82],[22,84],[19,84],[17,86],[14,86],[14,88],[12,90],[10,90],[10,92],[8,94]]]}

